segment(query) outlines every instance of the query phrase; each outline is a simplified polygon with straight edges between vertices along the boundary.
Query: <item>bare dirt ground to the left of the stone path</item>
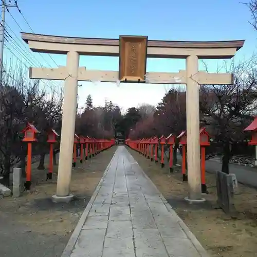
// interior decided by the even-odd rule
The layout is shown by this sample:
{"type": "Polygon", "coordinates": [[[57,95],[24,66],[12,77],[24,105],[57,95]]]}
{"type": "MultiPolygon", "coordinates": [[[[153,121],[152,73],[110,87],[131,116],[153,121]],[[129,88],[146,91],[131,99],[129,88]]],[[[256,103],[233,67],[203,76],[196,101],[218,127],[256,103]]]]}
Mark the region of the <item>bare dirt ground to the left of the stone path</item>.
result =
{"type": "MultiPolygon", "coordinates": [[[[37,170],[38,163],[34,163],[31,190],[17,199],[0,198],[0,256],[60,256],[115,150],[106,150],[83,164],[78,159],[71,179],[76,198],[69,204],[51,201],[58,167],[54,167],[53,180],[45,181],[47,170],[37,170]]],[[[45,164],[47,167],[47,161],[45,164]]]]}

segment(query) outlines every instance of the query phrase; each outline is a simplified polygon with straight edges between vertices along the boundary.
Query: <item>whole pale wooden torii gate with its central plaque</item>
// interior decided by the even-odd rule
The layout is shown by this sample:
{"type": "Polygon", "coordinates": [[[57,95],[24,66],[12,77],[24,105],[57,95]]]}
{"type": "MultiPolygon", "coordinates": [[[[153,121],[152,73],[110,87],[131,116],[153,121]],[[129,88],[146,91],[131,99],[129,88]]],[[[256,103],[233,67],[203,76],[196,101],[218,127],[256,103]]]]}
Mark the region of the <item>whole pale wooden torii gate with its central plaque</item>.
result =
{"type": "Polygon", "coordinates": [[[120,36],[120,39],[71,38],[21,33],[34,52],[67,54],[67,65],[58,68],[30,68],[32,79],[64,80],[62,136],[58,168],[57,193],[54,201],[72,198],[69,186],[78,81],[145,82],[186,84],[187,152],[190,201],[201,197],[199,148],[199,84],[232,84],[231,74],[208,74],[198,71],[199,59],[230,59],[244,41],[181,42],[152,41],[147,36],[120,36]],[[119,71],[86,70],[79,67],[79,56],[113,56],[120,58],[119,71]],[[146,72],[146,58],[186,59],[186,70],[177,73],[146,72]],[[146,76],[145,76],[146,75],[146,76]]]}

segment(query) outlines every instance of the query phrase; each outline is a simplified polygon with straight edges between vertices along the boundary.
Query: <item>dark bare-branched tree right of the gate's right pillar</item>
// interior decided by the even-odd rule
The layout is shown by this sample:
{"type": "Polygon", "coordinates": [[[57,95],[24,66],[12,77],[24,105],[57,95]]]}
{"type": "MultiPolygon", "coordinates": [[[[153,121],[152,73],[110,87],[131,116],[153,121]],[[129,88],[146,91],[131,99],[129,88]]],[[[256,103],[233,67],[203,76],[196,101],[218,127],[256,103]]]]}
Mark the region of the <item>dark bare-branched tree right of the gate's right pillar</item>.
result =
{"type": "Polygon", "coordinates": [[[257,74],[254,62],[230,66],[234,74],[232,85],[200,87],[201,120],[208,126],[214,142],[223,153],[222,171],[229,173],[231,144],[245,138],[244,127],[256,114],[257,74]]]}

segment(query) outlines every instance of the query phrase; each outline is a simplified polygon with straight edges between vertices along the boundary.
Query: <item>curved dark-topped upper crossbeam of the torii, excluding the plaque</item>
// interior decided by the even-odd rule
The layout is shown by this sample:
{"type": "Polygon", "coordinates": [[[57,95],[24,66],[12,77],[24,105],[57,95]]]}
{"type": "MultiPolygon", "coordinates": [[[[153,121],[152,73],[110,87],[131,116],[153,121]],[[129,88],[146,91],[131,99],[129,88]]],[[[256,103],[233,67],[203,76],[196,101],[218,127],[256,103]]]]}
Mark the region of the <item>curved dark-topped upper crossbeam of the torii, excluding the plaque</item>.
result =
{"type": "MultiPolygon", "coordinates": [[[[35,52],[66,54],[77,51],[88,56],[119,56],[119,39],[72,38],[69,36],[21,33],[22,39],[35,52]]],[[[196,55],[199,59],[227,59],[244,45],[244,40],[190,42],[149,40],[149,58],[186,58],[196,55]]]]}

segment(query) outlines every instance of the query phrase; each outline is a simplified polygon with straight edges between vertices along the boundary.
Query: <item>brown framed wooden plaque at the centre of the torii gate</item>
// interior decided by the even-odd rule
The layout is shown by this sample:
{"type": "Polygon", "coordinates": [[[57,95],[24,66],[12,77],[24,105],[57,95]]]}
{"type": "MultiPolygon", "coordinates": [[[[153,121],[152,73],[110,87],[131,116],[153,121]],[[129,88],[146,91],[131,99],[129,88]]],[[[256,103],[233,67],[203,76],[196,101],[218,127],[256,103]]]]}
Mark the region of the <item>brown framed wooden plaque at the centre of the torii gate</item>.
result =
{"type": "Polygon", "coordinates": [[[147,42],[147,36],[120,36],[120,81],[145,82],[147,42]]]}

